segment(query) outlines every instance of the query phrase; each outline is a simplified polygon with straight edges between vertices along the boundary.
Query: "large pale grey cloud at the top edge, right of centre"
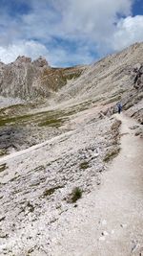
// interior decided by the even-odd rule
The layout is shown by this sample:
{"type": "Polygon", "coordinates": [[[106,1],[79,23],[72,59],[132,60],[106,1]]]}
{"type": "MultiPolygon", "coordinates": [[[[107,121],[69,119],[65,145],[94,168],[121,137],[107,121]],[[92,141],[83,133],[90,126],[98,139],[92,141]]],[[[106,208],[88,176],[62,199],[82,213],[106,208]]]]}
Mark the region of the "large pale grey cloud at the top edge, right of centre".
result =
{"type": "MultiPolygon", "coordinates": [[[[69,0],[62,10],[62,31],[102,39],[112,33],[117,14],[129,14],[132,0],[69,0]]],[[[61,1],[63,3],[63,1],[61,1]]]]}

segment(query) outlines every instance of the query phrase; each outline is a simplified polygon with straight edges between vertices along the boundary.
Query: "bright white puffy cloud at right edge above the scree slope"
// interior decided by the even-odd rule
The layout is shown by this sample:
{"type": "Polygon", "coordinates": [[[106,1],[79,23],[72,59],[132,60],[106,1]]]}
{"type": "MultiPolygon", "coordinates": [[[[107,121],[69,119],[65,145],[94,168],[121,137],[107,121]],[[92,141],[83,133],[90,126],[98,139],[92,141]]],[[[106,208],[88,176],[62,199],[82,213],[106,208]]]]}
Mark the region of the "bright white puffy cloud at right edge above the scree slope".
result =
{"type": "Polygon", "coordinates": [[[143,15],[121,19],[112,38],[113,50],[119,51],[140,41],[143,41],[143,15]]]}

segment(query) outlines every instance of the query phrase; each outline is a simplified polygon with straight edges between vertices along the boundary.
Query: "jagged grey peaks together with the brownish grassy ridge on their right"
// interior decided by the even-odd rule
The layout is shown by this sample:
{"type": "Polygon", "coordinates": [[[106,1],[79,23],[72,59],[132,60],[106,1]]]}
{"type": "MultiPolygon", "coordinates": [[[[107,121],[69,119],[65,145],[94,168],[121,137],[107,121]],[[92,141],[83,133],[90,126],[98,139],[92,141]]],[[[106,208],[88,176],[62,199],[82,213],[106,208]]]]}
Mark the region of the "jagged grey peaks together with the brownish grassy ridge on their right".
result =
{"type": "Polygon", "coordinates": [[[43,57],[31,61],[22,56],[8,65],[0,62],[0,94],[26,100],[50,97],[83,69],[71,68],[70,77],[66,69],[51,68],[43,57]]]}

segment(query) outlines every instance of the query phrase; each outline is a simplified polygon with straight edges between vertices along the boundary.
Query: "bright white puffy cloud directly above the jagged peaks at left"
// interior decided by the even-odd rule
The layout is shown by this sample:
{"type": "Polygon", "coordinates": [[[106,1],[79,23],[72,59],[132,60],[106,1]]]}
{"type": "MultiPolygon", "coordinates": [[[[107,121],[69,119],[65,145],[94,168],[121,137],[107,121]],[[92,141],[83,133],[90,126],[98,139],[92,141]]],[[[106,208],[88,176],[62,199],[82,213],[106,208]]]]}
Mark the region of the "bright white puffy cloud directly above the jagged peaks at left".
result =
{"type": "Polygon", "coordinates": [[[38,58],[41,55],[48,58],[49,52],[43,44],[34,41],[18,41],[7,47],[0,46],[0,59],[4,63],[12,62],[18,56],[38,58]]]}

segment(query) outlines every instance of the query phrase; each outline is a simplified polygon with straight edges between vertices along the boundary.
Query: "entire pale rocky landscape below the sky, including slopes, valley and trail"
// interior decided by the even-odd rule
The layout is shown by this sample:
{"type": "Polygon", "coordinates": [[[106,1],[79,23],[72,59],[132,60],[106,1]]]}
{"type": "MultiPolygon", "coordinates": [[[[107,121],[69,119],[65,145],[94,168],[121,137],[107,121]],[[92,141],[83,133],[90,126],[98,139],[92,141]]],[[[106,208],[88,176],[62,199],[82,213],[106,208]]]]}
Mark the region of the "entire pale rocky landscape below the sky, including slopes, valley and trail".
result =
{"type": "Polygon", "coordinates": [[[58,81],[45,83],[54,71],[43,58],[18,58],[6,71],[1,63],[2,79],[10,70],[15,79],[0,84],[0,255],[142,255],[142,50],[134,44],[82,67],[58,91],[51,91],[58,81]],[[37,69],[48,73],[40,83],[31,77],[31,86],[26,74],[37,69]],[[39,84],[54,97],[8,98],[19,82],[22,98],[39,84]],[[82,198],[72,203],[74,187],[82,198]]]}

